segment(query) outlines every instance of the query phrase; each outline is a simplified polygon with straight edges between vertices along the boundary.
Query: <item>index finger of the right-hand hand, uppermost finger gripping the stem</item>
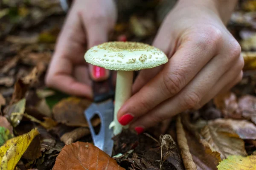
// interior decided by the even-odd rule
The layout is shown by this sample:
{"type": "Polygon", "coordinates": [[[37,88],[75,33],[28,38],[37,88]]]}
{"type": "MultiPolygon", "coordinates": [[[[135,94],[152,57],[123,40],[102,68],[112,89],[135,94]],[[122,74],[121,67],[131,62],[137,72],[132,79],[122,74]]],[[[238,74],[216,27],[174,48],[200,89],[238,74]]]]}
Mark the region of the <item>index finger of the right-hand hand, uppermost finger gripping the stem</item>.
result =
{"type": "MultiPolygon", "coordinates": [[[[140,117],[156,105],[177,94],[216,54],[217,44],[211,40],[184,43],[169,59],[165,68],[120,108],[118,119],[125,114],[140,117]],[[195,43],[197,42],[197,44],[195,43]],[[207,51],[207,53],[202,53],[207,51]],[[195,67],[196,65],[196,67],[195,67]]],[[[127,123],[127,121],[124,121],[127,123]]],[[[122,122],[120,122],[122,124],[122,122]]]]}

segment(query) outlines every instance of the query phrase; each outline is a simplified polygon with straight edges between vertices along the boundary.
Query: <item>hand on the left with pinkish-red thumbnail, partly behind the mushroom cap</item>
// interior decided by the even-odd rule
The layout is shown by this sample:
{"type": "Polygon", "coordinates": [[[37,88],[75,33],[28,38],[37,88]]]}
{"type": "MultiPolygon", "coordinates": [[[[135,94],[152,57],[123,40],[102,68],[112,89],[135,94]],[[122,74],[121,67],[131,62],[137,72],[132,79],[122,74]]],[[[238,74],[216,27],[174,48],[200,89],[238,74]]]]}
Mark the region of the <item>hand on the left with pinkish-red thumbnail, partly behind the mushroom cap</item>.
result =
{"type": "Polygon", "coordinates": [[[85,62],[86,46],[91,48],[106,42],[115,21],[113,0],[74,1],[58,37],[46,85],[67,94],[92,98],[90,77],[96,81],[106,79],[109,71],[85,62]]]}

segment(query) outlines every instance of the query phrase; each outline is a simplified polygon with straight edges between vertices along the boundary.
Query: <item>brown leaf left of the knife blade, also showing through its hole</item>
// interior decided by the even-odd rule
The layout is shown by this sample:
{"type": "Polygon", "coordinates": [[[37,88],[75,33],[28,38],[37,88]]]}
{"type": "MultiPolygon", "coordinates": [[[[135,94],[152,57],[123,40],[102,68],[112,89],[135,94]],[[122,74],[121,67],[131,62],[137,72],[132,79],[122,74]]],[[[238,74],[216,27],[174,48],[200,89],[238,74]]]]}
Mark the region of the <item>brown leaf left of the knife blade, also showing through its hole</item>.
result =
{"type": "MultiPolygon", "coordinates": [[[[88,127],[84,111],[90,104],[90,100],[78,97],[63,99],[52,108],[53,117],[57,122],[68,126],[88,127]]],[[[92,121],[93,126],[97,126],[99,123],[100,119],[92,121]]]]}

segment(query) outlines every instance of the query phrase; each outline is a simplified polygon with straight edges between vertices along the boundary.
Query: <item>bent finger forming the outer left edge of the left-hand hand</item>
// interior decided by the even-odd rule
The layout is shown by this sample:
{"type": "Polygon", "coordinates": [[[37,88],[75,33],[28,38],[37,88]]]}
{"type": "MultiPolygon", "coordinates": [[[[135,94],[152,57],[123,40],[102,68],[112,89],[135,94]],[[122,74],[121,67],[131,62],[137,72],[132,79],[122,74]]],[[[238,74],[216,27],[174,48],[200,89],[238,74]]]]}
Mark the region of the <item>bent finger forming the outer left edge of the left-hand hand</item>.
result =
{"type": "Polygon", "coordinates": [[[58,37],[55,53],[45,77],[48,87],[71,95],[92,96],[90,86],[76,82],[71,77],[74,64],[85,64],[84,35],[76,9],[72,7],[58,37]]]}

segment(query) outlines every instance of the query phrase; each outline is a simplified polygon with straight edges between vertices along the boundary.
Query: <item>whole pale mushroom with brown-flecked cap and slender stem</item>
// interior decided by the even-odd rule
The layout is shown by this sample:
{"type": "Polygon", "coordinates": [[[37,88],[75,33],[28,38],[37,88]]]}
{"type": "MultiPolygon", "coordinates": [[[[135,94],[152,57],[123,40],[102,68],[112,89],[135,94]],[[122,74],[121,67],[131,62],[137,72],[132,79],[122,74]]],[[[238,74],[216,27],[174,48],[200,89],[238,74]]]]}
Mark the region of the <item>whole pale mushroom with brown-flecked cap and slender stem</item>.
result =
{"type": "Polygon", "coordinates": [[[84,55],[86,62],[117,71],[114,118],[110,125],[114,135],[122,131],[117,112],[131,97],[133,71],[157,67],[168,61],[166,54],[140,42],[105,42],[90,48],[84,55]]]}

